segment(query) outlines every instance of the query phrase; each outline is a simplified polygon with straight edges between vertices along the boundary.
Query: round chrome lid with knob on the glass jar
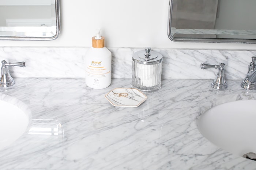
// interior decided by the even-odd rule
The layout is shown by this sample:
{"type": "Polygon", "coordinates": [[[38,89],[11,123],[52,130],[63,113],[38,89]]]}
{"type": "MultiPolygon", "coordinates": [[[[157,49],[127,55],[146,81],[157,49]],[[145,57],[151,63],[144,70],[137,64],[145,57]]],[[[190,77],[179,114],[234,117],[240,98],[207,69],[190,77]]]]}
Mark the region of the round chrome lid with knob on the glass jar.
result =
{"type": "Polygon", "coordinates": [[[132,60],[140,64],[158,64],[163,60],[163,56],[158,52],[151,51],[150,47],[145,47],[145,51],[138,51],[132,55],[132,60]]]}

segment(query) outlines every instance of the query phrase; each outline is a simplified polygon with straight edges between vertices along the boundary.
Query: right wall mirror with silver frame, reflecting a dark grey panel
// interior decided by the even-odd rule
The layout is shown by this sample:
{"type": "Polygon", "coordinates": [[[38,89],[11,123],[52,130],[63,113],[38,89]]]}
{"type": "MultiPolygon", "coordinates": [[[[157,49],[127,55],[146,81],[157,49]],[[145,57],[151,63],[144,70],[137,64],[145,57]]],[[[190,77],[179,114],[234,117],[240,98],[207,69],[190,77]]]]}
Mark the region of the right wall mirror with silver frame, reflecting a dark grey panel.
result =
{"type": "Polygon", "coordinates": [[[172,41],[256,43],[255,0],[170,0],[172,41]]]}

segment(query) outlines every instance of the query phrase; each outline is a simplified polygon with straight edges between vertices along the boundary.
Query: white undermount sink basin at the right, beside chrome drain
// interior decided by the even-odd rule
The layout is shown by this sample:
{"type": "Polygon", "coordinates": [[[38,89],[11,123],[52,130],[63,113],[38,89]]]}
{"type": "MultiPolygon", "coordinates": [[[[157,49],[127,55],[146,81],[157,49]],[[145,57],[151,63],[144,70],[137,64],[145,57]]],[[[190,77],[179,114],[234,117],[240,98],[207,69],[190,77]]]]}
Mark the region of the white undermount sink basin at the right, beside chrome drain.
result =
{"type": "Polygon", "coordinates": [[[256,153],[255,106],[256,100],[238,100],[212,107],[199,117],[199,131],[230,153],[256,153]]]}

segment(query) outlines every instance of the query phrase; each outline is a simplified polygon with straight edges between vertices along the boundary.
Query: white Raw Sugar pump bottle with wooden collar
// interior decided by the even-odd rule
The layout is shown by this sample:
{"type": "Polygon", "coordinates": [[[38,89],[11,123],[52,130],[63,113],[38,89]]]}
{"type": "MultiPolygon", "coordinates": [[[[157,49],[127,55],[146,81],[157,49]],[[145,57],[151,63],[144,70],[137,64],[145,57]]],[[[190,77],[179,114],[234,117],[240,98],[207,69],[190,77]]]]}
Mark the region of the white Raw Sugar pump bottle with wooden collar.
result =
{"type": "Polygon", "coordinates": [[[92,47],[85,56],[86,76],[85,82],[88,87],[94,89],[106,88],[111,83],[111,52],[105,47],[105,38],[92,37],[92,47]]]}

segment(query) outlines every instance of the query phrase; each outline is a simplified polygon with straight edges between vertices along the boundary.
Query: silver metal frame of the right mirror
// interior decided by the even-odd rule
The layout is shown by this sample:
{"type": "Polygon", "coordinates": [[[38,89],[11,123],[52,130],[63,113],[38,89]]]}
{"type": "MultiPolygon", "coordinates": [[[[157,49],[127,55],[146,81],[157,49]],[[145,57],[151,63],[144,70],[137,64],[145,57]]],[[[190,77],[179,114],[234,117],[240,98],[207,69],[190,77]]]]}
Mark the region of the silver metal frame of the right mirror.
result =
{"type": "MultiPolygon", "coordinates": [[[[173,0],[169,1],[168,31],[167,35],[174,42],[206,42],[206,43],[256,43],[256,39],[228,39],[228,38],[177,38],[172,36],[172,12],[173,0]]],[[[175,33],[174,33],[175,35],[175,33]]]]}

